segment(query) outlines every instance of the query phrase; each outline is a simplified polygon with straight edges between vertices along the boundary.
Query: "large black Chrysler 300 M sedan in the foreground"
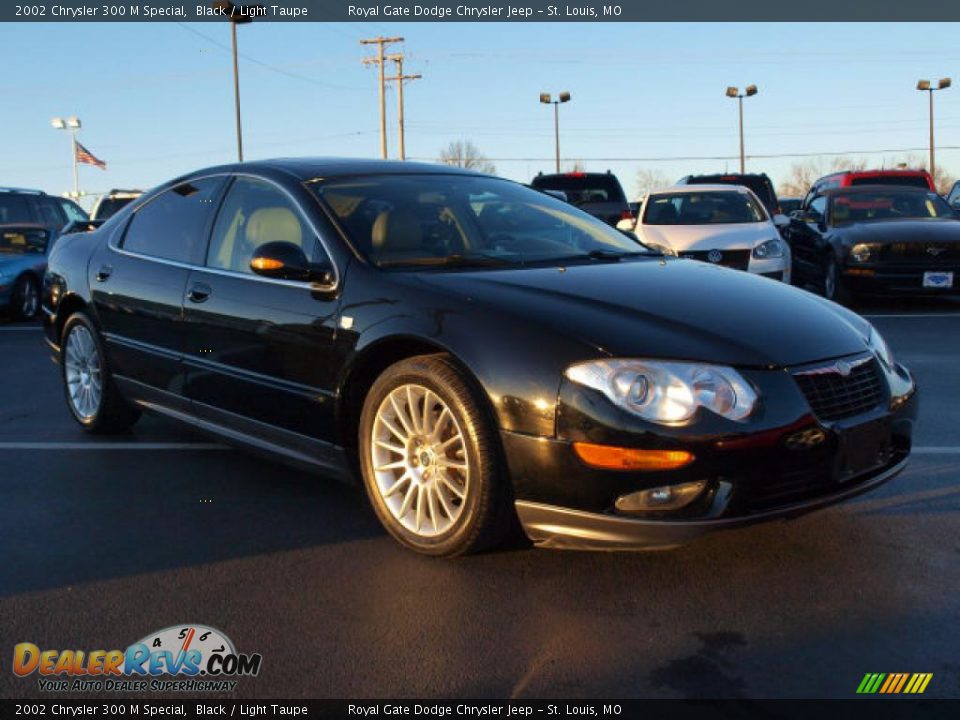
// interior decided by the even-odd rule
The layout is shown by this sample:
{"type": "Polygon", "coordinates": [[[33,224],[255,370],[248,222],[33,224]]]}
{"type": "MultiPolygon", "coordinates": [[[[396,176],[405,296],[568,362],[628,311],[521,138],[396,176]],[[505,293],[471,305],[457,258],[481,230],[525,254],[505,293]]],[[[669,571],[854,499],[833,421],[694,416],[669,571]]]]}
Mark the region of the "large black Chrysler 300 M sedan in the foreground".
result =
{"type": "Polygon", "coordinates": [[[517,519],[635,548],[803,513],[900,472],[916,414],[854,313],[446,166],[180,177],[64,236],[44,310],[90,432],[149,410],[359,475],[436,555],[517,519]]]}

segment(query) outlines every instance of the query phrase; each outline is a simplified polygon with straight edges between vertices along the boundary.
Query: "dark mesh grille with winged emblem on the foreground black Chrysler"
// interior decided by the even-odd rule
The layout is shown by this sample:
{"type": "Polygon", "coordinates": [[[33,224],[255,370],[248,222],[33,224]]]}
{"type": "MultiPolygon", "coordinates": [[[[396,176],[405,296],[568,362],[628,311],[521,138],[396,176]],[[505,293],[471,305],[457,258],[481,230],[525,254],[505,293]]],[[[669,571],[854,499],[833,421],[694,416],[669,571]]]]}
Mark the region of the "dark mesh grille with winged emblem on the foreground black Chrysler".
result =
{"type": "Polygon", "coordinates": [[[793,374],[814,415],[834,421],[872,410],[883,399],[883,381],[875,358],[846,361],[849,374],[843,375],[845,361],[793,374]]]}

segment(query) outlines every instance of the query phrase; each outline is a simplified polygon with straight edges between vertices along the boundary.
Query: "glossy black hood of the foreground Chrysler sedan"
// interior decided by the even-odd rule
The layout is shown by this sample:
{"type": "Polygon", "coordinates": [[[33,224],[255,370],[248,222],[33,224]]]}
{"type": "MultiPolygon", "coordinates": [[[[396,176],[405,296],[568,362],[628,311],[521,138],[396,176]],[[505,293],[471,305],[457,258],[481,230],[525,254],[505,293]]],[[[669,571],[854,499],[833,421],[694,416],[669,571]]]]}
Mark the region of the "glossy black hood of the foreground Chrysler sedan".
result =
{"type": "Polygon", "coordinates": [[[408,277],[612,356],[785,367],[861,352],[870,331],[806,291],[673,258],[408,277]]]}

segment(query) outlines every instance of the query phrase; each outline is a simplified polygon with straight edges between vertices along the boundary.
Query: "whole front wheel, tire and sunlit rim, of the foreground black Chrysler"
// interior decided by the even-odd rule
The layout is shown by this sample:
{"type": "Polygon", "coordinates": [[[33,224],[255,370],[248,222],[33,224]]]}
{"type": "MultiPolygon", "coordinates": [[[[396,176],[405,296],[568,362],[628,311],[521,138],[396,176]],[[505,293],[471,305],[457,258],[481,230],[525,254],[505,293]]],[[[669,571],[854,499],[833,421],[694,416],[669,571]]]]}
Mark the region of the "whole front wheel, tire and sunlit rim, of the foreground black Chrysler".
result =
{"type": "Polygon", "coordinates": [[[513,508],[497,436],[447,356],[387,368],[367,393],[359,433],[364,487],[400,543],[454,556],[503,540],[513,508]]]}

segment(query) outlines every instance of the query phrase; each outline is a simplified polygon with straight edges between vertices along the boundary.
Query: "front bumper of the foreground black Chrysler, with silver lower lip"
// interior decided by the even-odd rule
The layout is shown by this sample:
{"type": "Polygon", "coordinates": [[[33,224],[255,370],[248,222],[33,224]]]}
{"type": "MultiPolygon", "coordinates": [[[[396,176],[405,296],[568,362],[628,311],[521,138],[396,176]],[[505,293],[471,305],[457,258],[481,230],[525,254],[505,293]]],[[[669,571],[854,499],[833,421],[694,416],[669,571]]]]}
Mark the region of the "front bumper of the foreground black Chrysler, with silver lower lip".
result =
{"type": "MultiPolygon", "coordinates": [[[[579,549],[658,549],[716,530],[789,518],[872,490],[903,470],[917,415],[916,386],[896,370],[895,399],[885,395],[868,412],[821,422],[790,374],[745,371],[771,398],[751,427],[731,433],[717,416],[688,428],[638,426],[605,400],[567,383],[561,388],[558,435],[534,437],[502,431],[517,515],[537,545],[579,549]],[[882,442],[865,438],[878,429],[882,442]],[[882,430],[882,432],[880,432],[882,430]],[[864,435],[863,432],[867,431],[864,435]],[[798,442],[815,437],[816,442],[798,442]],[[623,471],[590,467],[575,444],[687,450],[695,461],[674,470],[623,471]],[[870,460],[849,464],[871,449],[870,460]],[[625,512],[624,498],[691,482],[704,490],[670,511],[625,512]]],[[[893,381],[888,379],[893,384],[893,381]]]]}

